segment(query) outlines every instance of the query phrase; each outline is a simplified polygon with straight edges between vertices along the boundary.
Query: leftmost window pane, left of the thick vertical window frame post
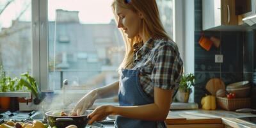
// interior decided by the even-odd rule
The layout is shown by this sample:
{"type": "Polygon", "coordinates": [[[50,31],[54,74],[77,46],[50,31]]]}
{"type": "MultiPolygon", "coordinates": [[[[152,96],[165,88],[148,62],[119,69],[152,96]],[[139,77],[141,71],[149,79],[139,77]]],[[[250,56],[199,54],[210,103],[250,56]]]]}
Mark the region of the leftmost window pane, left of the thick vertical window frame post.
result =
{"type": "Polygon", "coordinates": [[[6,75],[31,72],[31,0],[0,1],[0,65],[6,75]]]}

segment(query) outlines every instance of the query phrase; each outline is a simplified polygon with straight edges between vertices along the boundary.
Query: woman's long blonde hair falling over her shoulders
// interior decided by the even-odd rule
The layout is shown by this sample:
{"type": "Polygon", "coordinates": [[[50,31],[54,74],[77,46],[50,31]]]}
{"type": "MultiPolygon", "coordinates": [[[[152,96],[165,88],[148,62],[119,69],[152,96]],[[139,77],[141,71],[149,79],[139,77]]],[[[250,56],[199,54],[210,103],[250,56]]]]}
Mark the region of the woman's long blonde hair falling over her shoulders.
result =
{"type": "MultiPolygon", "coordinates": [[[[157,8],[156,0],[131,0],[129,3],[125,3],[125,0],[114,0],[112,3],[113,12],[115,13],[115,6],[127,8],[133,12],[140,12],[143,15],[143,19],[140,24],[140,32],[145,36],[156,38],[164,38],[171,40],[166,31],[163,28],[159,17],[159,11],[157,8]]],[[[115,14],[115,19],[118,17],[115,14]]],[[[121,31],[125,42],[125,57],[119,66],[121,68],[132,68],[134,48],[133,45],[142,42],[140,36],[134,36],[128,38],[125,36],[124,31],[121,31]]]]}

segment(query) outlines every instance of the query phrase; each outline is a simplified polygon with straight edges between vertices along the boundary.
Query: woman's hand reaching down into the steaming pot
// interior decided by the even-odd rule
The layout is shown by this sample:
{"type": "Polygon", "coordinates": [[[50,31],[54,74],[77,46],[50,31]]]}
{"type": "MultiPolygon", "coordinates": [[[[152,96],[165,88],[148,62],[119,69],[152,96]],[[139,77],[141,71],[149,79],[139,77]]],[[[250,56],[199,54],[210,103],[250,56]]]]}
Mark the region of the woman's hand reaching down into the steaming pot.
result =
{"type": "Polygon", "coordinates": [[[74,109],[71,111],[71,116],[76,115],[83,115],[86,109],[92,107],[94,101],[96,100],[95,92],[90,92],[84,95],[83,98],[81,98],[74,109]]]}

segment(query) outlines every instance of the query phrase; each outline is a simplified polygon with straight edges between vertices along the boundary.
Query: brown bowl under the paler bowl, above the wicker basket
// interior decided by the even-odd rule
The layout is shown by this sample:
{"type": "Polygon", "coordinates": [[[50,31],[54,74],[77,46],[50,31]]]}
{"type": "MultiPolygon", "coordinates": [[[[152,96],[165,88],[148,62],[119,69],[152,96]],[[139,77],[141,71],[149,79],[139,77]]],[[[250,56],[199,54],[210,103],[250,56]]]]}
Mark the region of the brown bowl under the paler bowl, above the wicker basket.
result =
{"type": "Polygon", "coordinates": [[[243,88],[227,88],[228,93],[235,93],[236,98],[246,98],[249,97],[251,86],[245,86],[243,88]]]}

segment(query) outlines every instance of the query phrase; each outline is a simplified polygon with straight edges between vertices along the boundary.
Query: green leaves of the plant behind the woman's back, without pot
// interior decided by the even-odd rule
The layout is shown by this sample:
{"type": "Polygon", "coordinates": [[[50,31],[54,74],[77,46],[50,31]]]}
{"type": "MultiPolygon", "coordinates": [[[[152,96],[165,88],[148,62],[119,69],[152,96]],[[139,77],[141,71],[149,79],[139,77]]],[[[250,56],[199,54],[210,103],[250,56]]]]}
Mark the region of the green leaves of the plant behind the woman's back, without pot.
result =
{"type": "Polygon", "coordinates": [[[179,88],[181,90],[184,90],[185,92],[190,92],[192,86],[195,86],[194,74],[183,74],[182,77],[180,78],[179,88]]]}

